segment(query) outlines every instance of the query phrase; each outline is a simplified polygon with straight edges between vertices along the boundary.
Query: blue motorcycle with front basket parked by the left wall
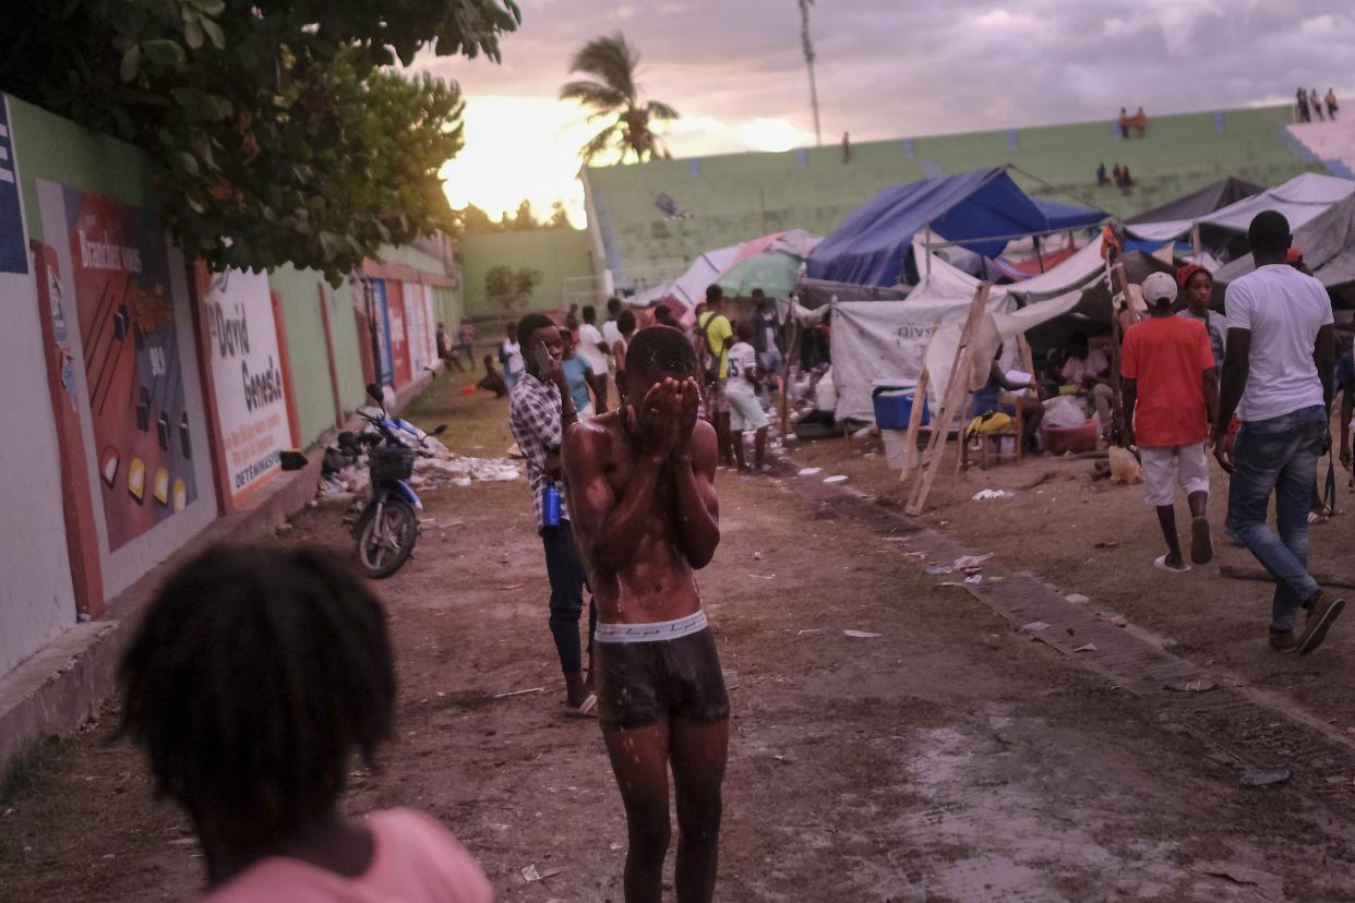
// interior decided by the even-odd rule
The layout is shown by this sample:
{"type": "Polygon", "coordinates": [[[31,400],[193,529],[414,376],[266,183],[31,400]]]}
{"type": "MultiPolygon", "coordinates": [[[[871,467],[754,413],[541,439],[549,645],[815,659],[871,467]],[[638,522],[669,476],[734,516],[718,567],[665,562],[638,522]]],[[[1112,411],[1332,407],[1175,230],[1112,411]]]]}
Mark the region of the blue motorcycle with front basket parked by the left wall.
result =
{"type": "MultiPolygon", "coordinates": [[[[359,567],[367,577],[382,579],[409,560],[419,542],[419,516],[415,512],[423,510],[423,502],[409,478],[428,433],[409,421],[390,417],[381,387],[375,383],[367,386],[367,395],[379,406],[379,416],[359,410],[358,416],[367,421],[369,429],[356,439],[370,445],[371,495],[354,523],[352,533],[358,539],[359,567]]],[[[432,435],[440,436],[446,429],[447,425],[440,424],[432,435]]]]}

